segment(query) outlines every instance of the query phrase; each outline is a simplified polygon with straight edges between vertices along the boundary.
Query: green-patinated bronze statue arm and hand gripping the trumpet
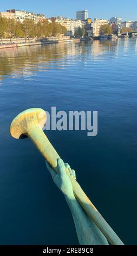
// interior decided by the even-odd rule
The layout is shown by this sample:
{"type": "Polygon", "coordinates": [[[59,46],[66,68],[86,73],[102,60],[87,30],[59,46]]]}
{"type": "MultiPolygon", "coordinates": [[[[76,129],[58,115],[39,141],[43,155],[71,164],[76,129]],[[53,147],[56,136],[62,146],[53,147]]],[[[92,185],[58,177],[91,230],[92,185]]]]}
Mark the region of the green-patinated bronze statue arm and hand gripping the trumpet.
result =
{"type": "Polygon", "coordinates": [[[66,168],[69,169],[71,178],[74,179],[76,179],[75,171],[70,168],[68,163],[64,163],[61,159],[58,159],[57,168],[59,174],[56,174],[53,168],[49,166],[48,162],[45,162],[53,181],[64,194],[66,202],[70,208],[80,245],[108,245],[106,237],[82,209],[74,196],[73,186],[66,173],[66,168]]]}

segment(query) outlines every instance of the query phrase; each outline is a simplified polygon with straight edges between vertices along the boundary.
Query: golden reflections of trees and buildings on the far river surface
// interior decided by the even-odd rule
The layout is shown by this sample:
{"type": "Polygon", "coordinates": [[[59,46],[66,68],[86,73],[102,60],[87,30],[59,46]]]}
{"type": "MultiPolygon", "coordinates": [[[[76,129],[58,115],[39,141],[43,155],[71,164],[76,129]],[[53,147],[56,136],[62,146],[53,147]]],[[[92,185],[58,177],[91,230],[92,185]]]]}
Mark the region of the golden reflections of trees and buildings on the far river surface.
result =
{"type": "MultiPolygon", "coordinates": [[[[121,46],[123,52],[127,53],[129,40],[132,39],[66,42],[2,49],[0,50],[0,84],[8,75],[12,78],[23,76],[27,80],[32,80],[32,75],[36,75],[37,71],[68,69],[76,65],[76,62],[84,62],[84,66],[87,66],[89,58],[96,61],[105,61],[106,58],[114,59],[118,56],[121,46]]],[[[132,41],[136,52],[136,40],[132,41]]]]}

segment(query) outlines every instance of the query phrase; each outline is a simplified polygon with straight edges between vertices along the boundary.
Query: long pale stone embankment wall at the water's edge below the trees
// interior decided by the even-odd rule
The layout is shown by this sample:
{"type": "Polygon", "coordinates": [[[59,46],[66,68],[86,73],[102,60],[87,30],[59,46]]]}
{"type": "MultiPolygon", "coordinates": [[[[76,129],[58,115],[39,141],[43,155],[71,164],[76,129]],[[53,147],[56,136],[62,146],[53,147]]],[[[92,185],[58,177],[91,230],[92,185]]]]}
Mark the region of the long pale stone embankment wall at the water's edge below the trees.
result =
{"type": "Polygon", "coordinates": [[[31,45],[47,45],[47,44],[58,44],[59,42],[74,42],[80,41],[79,38],[75,39],[59,39],[59,40],[49,40],[49,41],[38,41],[38,42],[21,42],[18,44],[3,44],[0,45],[0,49],[4,48],[15,48],[15,47],[22,47],[22,46],[31,46],[31,45]]]}

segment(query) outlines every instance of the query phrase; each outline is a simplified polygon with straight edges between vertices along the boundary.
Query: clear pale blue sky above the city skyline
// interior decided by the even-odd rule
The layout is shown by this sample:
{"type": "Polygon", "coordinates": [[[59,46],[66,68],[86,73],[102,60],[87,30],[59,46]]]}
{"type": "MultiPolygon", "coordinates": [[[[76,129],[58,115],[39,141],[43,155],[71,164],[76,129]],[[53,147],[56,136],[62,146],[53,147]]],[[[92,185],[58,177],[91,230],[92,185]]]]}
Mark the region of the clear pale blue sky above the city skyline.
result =
{"type": "Polygon", "coordinates": [[[137,20],[137,1],[131,0],[6,0],[1,1],[0,11],[6,9],[30,10],[47,17],[65,16],[75,18],[76,10],[88,10],[89,17],[109,19],[112,16],[125,20],[137,20]],[[127,2],[127,3],[126,3],[127,2]]]}

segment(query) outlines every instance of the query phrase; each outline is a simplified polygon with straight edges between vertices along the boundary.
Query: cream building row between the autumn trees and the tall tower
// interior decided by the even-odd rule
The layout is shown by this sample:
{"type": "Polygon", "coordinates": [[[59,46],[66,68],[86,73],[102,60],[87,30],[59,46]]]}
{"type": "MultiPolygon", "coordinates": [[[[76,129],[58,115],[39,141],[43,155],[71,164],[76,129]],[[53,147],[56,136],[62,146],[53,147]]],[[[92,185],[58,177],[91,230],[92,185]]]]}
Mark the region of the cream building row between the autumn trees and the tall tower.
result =
{"type": "Polygon", "coordinates": [[[66,17],[51,17],[51,22],[58,22],[62,26],[66,27],[68,36],[74,36],[75,32],[80,28],[83,27],[83,22],[81,20],[73,20],[66,17]]]}

